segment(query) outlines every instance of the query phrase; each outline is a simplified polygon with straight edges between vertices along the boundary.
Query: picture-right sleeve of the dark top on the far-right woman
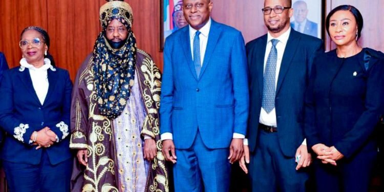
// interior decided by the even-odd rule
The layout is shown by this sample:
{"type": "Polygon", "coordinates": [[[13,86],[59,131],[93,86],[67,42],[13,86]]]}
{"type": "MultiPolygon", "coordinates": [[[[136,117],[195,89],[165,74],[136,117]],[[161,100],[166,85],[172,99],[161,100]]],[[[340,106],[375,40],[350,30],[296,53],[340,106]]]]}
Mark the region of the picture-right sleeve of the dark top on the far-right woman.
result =
{"type": "Polygon", "coordinates": [[[365,111],[335,148],[345,157],[351,157],[372,135],[384,113],[384,60],[381,58],[368,69],[365,111]]]}

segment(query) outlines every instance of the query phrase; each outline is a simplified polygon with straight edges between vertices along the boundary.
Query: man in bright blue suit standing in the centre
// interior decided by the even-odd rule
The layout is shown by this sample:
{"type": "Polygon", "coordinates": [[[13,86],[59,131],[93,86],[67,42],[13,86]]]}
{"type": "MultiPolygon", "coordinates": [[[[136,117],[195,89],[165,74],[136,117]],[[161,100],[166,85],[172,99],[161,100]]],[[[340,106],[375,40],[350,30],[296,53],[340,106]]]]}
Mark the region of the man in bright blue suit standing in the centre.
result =
{"type": "Polygon", "coordinates": [[[238,30],[210,18],[212,6],[209,0],[184,0],[189,26],[167,37],[164,46],[160,133],[163,154],[174,163],[176,191],[228,191],[230,163],[243,154],[244,40],[238,30]]]}

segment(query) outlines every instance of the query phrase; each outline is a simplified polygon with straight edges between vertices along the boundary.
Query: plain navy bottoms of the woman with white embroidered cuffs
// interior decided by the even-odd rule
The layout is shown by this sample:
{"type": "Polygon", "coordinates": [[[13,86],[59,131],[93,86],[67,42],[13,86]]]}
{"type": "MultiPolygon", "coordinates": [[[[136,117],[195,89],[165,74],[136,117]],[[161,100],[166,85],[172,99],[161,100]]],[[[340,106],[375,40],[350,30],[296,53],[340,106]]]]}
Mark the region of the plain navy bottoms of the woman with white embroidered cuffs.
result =
{"type": "Polygon", "coordinates": [[[38,165],[3,161],[10,192],[70,191],[72,161],[70,158],[52,165],[44,149],[38,165]]]}

